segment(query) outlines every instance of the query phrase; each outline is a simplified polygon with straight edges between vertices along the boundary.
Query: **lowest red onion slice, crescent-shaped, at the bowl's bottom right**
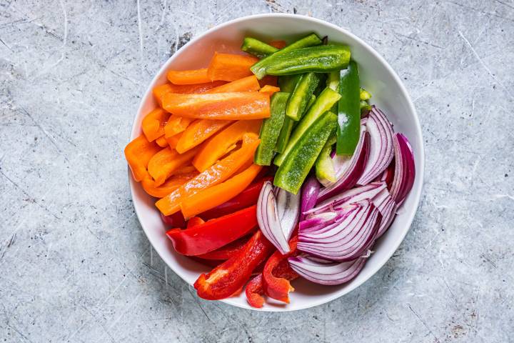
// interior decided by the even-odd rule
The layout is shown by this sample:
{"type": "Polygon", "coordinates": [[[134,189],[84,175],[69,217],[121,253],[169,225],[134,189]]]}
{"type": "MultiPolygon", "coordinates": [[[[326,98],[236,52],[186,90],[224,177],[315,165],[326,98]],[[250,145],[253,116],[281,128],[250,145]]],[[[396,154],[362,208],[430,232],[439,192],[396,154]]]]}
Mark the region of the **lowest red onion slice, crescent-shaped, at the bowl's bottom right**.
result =
{"type": "Polygon", "coordinates": [[[344,284],[361,272],[366,257],[359,257],[349,262],[331,262],[302,254],[288,259],[291,269],[298,275],[316,284],[344,284]]]}

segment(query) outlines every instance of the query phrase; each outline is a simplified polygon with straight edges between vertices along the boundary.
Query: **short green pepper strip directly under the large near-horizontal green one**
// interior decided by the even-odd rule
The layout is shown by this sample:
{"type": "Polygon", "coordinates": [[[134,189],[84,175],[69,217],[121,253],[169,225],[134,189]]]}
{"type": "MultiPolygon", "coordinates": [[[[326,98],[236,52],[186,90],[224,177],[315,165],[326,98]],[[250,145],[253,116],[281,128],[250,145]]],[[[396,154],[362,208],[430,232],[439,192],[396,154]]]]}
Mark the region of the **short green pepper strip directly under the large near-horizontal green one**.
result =
{"type": "Polygon", "coordinates": [[[318,87],[319,81],[318,74],[302,74],[288,100],[286,115],[289,118],[294,121],[300,120],[303,112],[307,109],[311,96],[318,87]]]}

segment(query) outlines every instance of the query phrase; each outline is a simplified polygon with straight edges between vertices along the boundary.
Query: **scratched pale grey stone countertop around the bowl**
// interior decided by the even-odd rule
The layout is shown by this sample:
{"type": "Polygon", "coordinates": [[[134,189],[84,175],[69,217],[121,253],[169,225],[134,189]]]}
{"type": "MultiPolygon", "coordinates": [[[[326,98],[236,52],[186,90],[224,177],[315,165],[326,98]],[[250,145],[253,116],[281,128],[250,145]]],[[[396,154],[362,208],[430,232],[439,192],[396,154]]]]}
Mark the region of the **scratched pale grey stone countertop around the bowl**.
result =
{"type": "Polygon", "coordinates": [[[0,0],[0,342],[513,342],[512,0],[0,0]],[[198,299],[152,251],[122,154],[141,94],[193,36],[306,14],[398,71],[423,126],[415,221],[330,304],[198,299]]]}

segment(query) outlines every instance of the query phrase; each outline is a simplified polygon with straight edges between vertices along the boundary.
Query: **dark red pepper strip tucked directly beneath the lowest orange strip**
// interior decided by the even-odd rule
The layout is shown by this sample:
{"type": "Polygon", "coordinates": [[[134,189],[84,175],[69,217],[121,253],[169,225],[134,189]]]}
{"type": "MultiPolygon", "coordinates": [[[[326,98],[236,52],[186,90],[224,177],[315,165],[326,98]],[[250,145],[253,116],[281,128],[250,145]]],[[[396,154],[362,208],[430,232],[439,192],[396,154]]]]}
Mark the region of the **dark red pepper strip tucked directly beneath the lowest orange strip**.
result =
{"type": "Polygon", "coordinates": [[[258,182],[253,182],[253,184],[246,187],[243,192],[228,200],[228,202],[198,214],[198,216],[208,220],[236,212],[251,205],[255,205],[257,204],[258,195],[261,193],[261,188],[263,187],[264,182],[271,181],[272,179],[272,177],[265,177],[258,182]]]}

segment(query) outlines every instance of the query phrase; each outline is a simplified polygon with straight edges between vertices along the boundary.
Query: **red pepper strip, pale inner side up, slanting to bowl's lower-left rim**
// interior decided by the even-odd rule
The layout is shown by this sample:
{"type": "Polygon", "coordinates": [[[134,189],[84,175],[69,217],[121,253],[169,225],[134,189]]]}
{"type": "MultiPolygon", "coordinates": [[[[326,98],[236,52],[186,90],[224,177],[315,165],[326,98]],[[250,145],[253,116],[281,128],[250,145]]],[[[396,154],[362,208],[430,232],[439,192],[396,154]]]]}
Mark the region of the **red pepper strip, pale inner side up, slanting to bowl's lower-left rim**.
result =
{"type": "Polygon", "coordinates": [[[238,254],[208,274],[201,274],[198,277],[194,283],[198,297],[207,300],[230,297],[248,281],[253,269],[272,251],[273,244],[263,236],[261,231],[257,231],[238,254]]]}

